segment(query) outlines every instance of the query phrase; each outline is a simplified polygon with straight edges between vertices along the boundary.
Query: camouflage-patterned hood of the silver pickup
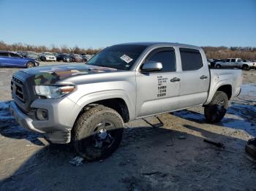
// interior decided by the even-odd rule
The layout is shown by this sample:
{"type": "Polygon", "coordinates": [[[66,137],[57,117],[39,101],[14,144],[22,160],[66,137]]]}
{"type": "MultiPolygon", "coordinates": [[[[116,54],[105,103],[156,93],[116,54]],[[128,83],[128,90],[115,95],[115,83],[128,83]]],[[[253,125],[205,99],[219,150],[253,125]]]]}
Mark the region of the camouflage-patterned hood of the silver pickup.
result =
{"type": "Polygon", "coordinates": [[[34,85],[50,85],[77,75],[100,74],[115,71],[118,70],[102,66],[63,64],[24,69],[22,72],[29,74],[29,81],[34,85]]]}

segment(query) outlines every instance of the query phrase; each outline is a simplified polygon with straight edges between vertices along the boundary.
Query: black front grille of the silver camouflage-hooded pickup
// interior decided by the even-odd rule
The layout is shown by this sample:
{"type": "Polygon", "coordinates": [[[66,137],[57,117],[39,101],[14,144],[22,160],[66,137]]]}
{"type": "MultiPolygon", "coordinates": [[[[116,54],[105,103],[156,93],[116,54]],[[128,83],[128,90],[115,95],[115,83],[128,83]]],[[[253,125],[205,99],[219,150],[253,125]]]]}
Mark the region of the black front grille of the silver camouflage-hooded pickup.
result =
{"type": "Polygon", "coordinates": [[[16,77],[12,77],[11,81],[12,93],[23,103],[26,101],[25,87],[22,81],[16,77]]]}

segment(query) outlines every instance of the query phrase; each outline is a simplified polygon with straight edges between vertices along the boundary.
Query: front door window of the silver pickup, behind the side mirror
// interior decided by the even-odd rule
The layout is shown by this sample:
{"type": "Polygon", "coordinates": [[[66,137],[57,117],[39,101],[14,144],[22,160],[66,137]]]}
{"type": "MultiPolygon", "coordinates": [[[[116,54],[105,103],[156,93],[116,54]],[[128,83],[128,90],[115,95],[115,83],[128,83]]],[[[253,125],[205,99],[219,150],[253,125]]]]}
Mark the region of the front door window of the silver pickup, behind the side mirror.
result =
{"type": "Polygon", "coordinates": [[[150,55],[147,62],[154,61],[162,63],[160,72],[176,71],[176,58],[174,50],[162,50],[150,55]]]}

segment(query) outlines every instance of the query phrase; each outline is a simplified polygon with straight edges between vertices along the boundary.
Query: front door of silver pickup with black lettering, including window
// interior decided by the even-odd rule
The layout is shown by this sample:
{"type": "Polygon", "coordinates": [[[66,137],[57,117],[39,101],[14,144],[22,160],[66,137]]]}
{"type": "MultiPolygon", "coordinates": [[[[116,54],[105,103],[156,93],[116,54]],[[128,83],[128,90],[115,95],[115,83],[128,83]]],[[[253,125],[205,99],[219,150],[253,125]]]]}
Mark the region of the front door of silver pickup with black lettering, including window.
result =
{"type": "MultiPolygon", "coordinates": [[[[178,94],[180,82],[176,72],[176,54],[173,47],[151,51],[143,63],[157,61],[162,63],[161,71],[141,73],[136,71],[137,99],[136,116],[169,112],[179,108],[178,94]]],[[[140,66],[140,68],[143,65],[140,66]]]]}

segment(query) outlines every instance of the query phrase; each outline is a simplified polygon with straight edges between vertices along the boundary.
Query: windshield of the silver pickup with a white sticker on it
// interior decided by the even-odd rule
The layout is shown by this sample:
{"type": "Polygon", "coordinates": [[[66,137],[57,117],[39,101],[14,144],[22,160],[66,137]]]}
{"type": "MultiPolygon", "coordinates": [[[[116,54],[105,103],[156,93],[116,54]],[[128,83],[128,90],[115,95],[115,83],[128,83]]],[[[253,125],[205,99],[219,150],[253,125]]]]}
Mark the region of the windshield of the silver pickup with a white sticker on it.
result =
{"type": "Polygon", "coordinates": [[[87,64],[129,70],[146,47],[138,44],[121,44],[107,47],[91,58],[87,64]]]}

